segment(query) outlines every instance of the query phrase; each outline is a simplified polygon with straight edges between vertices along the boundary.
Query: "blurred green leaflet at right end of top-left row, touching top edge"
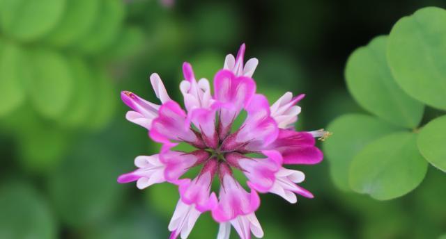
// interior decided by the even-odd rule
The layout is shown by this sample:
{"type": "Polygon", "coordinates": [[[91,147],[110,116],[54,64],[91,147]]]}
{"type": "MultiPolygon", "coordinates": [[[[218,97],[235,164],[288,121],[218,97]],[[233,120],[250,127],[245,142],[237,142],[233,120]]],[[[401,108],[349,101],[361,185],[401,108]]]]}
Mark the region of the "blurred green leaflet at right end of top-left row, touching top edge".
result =
{"type": "Polygon", "coordinates": [[[77,48],[84,53],[95,54],[112,44],[123,24],[125,9],[121,0],[102,0],[99,14],[91,26],[77,42],[77,48]]]}

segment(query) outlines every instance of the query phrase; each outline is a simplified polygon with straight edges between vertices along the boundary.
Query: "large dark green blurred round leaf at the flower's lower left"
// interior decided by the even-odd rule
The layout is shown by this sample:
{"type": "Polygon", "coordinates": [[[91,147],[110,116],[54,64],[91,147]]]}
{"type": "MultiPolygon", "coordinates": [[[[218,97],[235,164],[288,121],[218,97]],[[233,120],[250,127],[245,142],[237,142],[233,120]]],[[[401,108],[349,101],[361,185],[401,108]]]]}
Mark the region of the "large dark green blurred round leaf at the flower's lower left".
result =
{"type": "MultiPolygon", "coordinates": [[[[82,141],[81,141],[82,142],[82,141]]],[[[103,140],[89,140],[72,147],[72,153],[52,174],[49,197],[62,222],[81,229],[112,215],[122,199],[116,183],[118,154],[103,140]]]]}

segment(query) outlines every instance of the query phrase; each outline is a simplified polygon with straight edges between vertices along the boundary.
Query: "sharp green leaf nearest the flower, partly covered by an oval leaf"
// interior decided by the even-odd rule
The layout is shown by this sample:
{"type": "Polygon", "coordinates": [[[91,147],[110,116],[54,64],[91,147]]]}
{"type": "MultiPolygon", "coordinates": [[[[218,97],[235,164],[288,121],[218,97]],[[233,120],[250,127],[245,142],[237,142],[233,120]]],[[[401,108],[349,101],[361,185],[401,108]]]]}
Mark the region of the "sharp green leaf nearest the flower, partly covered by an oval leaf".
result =
{"type": "Polygon", "coordinates": [[[369,142],[398,130],[397,126],[369,115],[348,114],[334,119],[328,125],[333,135],[323,143],[334,184],[350,190],[348,168],[353,157],[369,142]]]}

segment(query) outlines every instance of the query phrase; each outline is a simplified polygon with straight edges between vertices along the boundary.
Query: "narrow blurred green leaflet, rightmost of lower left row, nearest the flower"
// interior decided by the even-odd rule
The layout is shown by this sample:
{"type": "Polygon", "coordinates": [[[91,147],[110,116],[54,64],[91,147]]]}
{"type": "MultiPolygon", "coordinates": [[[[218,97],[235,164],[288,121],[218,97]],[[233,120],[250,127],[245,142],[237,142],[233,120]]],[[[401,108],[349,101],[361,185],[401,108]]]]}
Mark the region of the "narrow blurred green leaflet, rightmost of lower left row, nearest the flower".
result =
{"type": "Polygon", "coordinates": [[[113,80],[107,76],[104,69],[93,72],[93,79],[91,87],[94,100],[90,102],[93,104],[93,112],[90,113],[89,126],[92,129],[102,129],[107,126],[115,113],[119,92],[116,91],[113,80]]]}

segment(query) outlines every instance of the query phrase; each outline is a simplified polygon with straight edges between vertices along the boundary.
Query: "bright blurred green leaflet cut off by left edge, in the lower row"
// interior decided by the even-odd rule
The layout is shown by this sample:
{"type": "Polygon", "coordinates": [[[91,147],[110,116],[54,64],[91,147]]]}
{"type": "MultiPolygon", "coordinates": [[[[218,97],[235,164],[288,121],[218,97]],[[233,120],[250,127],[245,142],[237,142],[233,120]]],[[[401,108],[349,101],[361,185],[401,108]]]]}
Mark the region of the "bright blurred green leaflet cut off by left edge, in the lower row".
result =
{"type": "Polygon", "coordinates": [[[0,42],[0,117],[19,107],[25,99],[22,49],[9,42],[0,42]]]}

